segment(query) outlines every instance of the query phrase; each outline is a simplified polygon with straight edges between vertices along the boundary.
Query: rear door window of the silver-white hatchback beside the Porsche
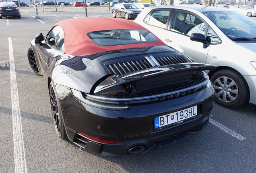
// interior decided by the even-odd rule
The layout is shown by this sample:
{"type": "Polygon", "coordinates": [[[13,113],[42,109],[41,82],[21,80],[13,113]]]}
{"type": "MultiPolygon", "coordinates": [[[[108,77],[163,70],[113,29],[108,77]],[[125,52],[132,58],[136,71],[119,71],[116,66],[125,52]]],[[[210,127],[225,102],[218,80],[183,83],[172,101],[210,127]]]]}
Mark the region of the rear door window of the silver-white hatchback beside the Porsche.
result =
{"type": "Polygon", "coordinates": [[[144,22],[153,26],[165,28],[170,13],[170,9],[153,10],[145,18],[144,22]]]}

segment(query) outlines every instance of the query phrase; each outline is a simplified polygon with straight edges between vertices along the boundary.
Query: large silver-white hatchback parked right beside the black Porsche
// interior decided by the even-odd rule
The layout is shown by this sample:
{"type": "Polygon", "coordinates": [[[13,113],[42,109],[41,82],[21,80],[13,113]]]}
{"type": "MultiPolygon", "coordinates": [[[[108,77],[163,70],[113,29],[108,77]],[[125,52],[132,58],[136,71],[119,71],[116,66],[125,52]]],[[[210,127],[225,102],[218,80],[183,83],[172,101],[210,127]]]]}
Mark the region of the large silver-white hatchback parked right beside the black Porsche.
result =
{"type": "Polygon", "coordinates": [[[256,21],[227,8],[171,5],[147,7],[134,22],[196,62],[217,66],[208,72],[216,103],[256,107],[256,21]]]}

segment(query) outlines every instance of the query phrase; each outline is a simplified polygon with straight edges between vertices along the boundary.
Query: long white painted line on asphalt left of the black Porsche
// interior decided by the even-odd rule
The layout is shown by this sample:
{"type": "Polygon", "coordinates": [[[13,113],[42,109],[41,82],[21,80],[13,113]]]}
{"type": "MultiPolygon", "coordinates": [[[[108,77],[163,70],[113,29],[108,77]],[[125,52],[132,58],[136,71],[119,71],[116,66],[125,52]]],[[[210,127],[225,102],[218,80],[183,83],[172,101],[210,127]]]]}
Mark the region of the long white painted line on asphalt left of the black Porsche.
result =
{"type": "Polygon", "coordinates": [[[27,173],[25,148],[21,125],[21,110],[19,106],[19,95],[16,81],[16,71],[14,65],[14,56],[12,48],[12,38],[9,40],[9,57],[10,57],[10,89],[12,99],[12,130],[14,145],[14,165],[15,173],[27,173]]]}

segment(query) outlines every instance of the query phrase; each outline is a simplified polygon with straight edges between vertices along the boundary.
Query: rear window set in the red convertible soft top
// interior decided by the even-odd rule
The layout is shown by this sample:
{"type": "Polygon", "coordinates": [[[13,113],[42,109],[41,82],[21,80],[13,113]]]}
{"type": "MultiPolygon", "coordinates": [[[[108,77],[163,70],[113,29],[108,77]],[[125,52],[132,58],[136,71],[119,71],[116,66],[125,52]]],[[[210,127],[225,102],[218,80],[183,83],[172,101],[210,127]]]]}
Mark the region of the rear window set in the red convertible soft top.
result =
{"type": "Polygon", "coordinates": [[[158,41],[151,32],[141,29],[94,31],[89,32],[87,36],[99,46],[117,46],[158,41]]]}

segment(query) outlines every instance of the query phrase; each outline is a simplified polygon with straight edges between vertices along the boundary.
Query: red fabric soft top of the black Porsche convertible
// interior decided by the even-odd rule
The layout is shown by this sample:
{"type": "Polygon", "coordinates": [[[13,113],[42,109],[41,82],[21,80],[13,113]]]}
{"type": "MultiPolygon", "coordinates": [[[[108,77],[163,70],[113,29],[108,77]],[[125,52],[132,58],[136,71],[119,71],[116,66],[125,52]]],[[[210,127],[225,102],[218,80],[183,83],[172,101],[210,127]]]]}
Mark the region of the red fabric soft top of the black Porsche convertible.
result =
{"type": "MultiPolygon", "coordinates": [[[[125,44],[118,46],[99,46],[95,44],[87,33],[101,30],[115,29],[143,29],[143,26],[122,18],[76,18],[63,20],[54,26],[60,26],[64,30],[65,54],[83,56],[110,50],[124,49],[142,46],[166,45],[159,38],[157,42],[139,44],[125,44]]],[[[147,30],[148,31],[148,30],[147,30]]]]}

